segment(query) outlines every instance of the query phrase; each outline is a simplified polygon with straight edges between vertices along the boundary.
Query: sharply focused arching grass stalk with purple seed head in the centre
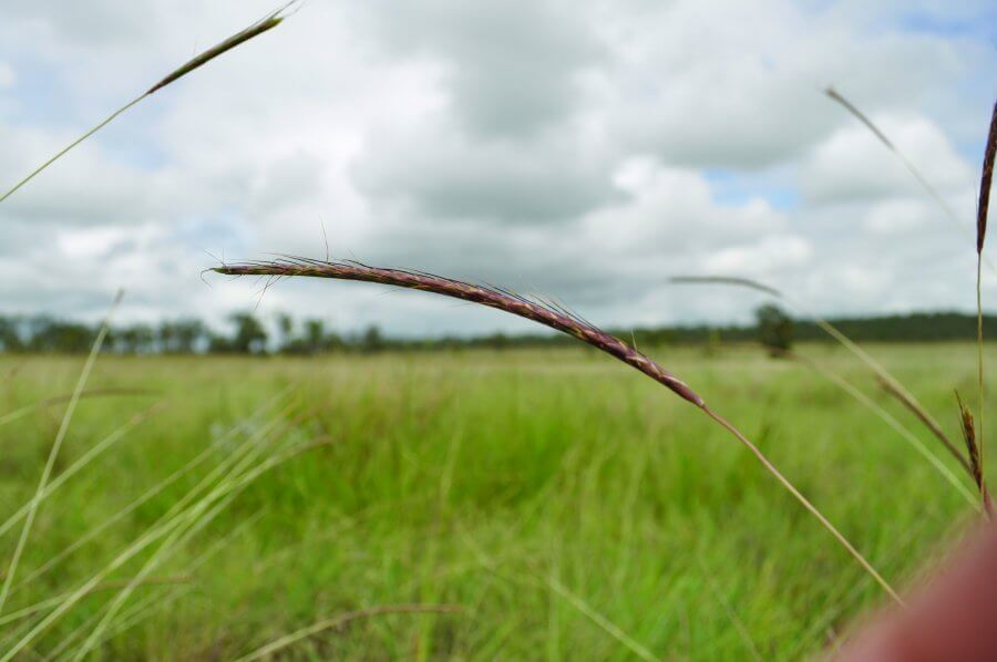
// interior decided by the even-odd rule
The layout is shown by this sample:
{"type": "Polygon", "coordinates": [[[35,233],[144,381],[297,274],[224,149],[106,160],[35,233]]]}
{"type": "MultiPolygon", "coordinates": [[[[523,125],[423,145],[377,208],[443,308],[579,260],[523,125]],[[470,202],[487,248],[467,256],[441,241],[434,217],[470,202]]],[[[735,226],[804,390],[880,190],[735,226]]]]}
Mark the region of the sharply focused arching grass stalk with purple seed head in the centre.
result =
{"type": "Polygon", "coordinates": [[[638,352],[621,340],[597,329],[577,314],[556,304],[542,304],[524,297],[494,287],[484,287],[442,278],[422,271],[407,271],[401,269],[384,269],[369,267],[356,261],[329,262],[308,258],[281,258],[276,261],[248,262],[243,265],[223,265],[213,269],[218,273],[230,276],[264,276],[271,278],[286,277],[312,277],[333,278],[340,280],[356,280],[362,282],[378,282],[393,287],[422,290],[451,297],[471,303],[477,303],[503,310],[527,320],[544,324],[562,333],[572,335],[599,351],[603,351],[627,365],[639,370],[659,384],[672,391],[682,400],[702,410],[710,418],[720,424],[724,430],[748,447],[759,459],[762,466],[774,476],[780,484],[814,517],[852,555],[852,557],[870,572],[883,590],[897,603],[903,600],[890,586],[890,583],[872,567],[857,549],[825,518],[816,507],[811,504],[779,469],[733,425],[724,421],[717,413],[707,407],[706,401],[678,376],[665,370],[650,358],[638,352]]]}

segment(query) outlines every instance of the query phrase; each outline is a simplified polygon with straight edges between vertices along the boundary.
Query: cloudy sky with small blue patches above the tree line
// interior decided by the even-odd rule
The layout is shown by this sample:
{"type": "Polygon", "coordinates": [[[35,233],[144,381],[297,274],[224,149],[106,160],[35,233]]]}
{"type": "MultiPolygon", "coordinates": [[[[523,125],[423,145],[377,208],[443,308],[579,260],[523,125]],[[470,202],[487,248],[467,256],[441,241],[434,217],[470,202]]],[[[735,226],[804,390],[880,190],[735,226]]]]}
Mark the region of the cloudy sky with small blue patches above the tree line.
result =
{"type": "MultiPolygon", "coordinates": [[[[0,188],[258,0],[50,0],[0,23],[0,188]]],[[[597,324],[743,322],[759,279],[826,316],[973,310],[990,0],[308,0],[0,205],[0,313],[236,310],[350,332],[521,332],[337,281],[204,275],[267,254],[502,285],[597,324]],[[822,91],[861,107],[956,211],[822,91]]],[[[991,260],[997,255],[991,251],[991,260]]],[[[984,303],[997,303],[985,270],[984,303]]]]}

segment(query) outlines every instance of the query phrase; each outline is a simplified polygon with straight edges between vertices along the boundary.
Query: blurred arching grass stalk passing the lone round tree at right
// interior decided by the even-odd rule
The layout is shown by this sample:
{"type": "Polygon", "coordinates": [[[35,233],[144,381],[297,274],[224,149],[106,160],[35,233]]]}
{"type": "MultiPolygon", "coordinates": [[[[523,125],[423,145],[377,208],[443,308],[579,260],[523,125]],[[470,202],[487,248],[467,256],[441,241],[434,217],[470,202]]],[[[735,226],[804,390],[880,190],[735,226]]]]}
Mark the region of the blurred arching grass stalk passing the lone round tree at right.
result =
{"type": "Polygon", "coordinates": [[[921,402],[914,396],[914,394],[907,391],[907,389],[904,387],[904,385],[893,375],[893,373],[886,370],[878,361],[873,359],[865,350],[859,346],[854,341],[852,341],[852,339],[842,333],[828,320],[806,310],[803,306],[793,301],[787,294],[777,290],[775,288],[747,278],[732,278],[727,276],[676,276],[670,279],[670,282],[677,285],[728,285],[734,287],[744,287],[759,292],[763,292],[765,294],[770,294],[795,310],[798,313],[802,314],[805,318],[809,318],[824,333],[836,340],[842,346],[844,346],[853,355],[855,355],[855,358],[857,358],[866,366],[868,366],[868,369],[872,370],[873,373],[881,380],[881,383],[884,385],[887,392],[891,393],[894,397],[898,399],[907,408],[914,412],[914,414],[921,421],[923,421],[925,425],[927,425],[932,433],[936,437],[938,437],[938,441],[942,442],[942,444],[953,455],[953,457],[958,461],[958,463],[967,470],[967,473],[969,472],[969,464],[967,459],[963,456],[962,452],[956,447],[956,445],[952,443],[952,441],[942,430],[942,426],[938,424],[938,422],[934,418],[934,416],[931,415],[931,413],[928,413],[928,411],[924,407],[924,405],[921,404],[921,402]]]}

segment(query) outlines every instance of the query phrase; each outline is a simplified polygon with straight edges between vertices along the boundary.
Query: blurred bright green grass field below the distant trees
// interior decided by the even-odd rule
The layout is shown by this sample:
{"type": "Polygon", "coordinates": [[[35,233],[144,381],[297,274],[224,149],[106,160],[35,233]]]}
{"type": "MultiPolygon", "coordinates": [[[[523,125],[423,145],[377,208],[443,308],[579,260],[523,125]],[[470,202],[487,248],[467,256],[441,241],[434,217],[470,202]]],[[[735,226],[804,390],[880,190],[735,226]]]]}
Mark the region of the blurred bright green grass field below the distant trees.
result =
{"type": "MultiPolygon", "coordinates": [[[[958,439],[952,390],[975,405],[975,346],[868,349],[958,439]]],[[[757,442],[895,586],[916,581],[970,520],[963,497],[898,434],[809,369],[753,349],[649,353],[757,442]]],[[[851,355],[802,353],[944,457],[851,355]]],[[[0,415],[71,392],[82,363],[0,359],[0,415]]],[[[134,414],[165,407],[41,504],[0,621],[4,649],[58,601],[11,618],[18,610],[83,585],[213,467],[250,447],[258,456],[246,466],[258,466],[280,444],[320,437],[330,443],[263,474],[168,548],[150,571],[164,583],[138,586],[100,637],[105,659],[228,659],[320,619],[417,602],[463,611],[357,620],[284,654],[799,659],[887,602],[722,430],[586,350],[102,356],[88,389],[155,393],[81,401],[56,476],[134,414]],[[32,577],[199,453],[204,462],[32,577]]],[[[31,498],[63,410],[0,426],[3,513],[31,498]]],[[[4,559],[19,532],[20,523],[3,535],[4,559]]],[[[157,545],[106,580],[134,577],[157,545]]],[[[72,650],[115,594],[82,597],[33,650],[75,637],[72,650]]]]}

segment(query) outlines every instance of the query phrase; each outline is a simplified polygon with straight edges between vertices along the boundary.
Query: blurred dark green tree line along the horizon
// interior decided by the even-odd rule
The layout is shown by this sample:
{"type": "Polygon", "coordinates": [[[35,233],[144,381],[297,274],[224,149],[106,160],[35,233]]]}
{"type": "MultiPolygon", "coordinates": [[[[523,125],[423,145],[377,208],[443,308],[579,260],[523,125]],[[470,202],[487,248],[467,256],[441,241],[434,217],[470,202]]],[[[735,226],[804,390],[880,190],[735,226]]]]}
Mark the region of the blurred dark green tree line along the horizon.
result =
{"type": "MultiPolygon", "coordinates": [[[[791,320],[769,306],[756,312],[756,324],[676,325],[610,329],[638,346],[661,344],[707,344],[761,342],[778,350],[792,341],[829,341],[828,335],[806,320],[791,320]]],[[[958,312],[911,313],[830,320],[857,342],[937,342],[974,340],[976,318],[958,312]]],[[[997,329],[997,317],[986,316],[985,327],[997,329]]],[[[51,316],[0,316],[0,351],[10,353],[82,353],[90,350],[97,325],[51,316]]],[[[444,337],[400,339],[383,335],[378,327],[359,333],[340,334],[323,320],[297,321],[278,314],[265,323],[251,312],[228,317],[227,328],[217,331],[197,319],[164,320],[157,324],[135,323],[112,328],[104,348],[119,354],[318,354],[327,352],[378,352],[382,350],[505,349],[573,344],[561,334],[493,333],[471,338],[444,337]]]]}

